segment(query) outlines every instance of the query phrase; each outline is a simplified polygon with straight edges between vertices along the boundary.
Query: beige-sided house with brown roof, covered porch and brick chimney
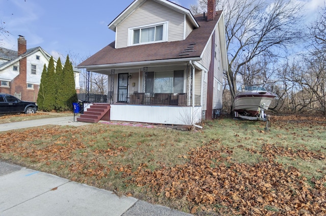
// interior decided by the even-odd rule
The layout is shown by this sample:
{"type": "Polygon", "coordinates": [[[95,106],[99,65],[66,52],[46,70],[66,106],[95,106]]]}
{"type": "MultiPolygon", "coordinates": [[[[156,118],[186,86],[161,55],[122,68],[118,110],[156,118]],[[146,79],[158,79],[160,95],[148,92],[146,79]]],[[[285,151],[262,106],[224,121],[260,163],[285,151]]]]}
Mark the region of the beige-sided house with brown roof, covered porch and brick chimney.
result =
{"type": "Polygon", "coordinates": [[[108,75],[111,120],[193,125],[222,109],[226,35],[214,0],[198,16],[167,0],[135,0],[108,28],[116,40],[78,68],[108,75]]]}

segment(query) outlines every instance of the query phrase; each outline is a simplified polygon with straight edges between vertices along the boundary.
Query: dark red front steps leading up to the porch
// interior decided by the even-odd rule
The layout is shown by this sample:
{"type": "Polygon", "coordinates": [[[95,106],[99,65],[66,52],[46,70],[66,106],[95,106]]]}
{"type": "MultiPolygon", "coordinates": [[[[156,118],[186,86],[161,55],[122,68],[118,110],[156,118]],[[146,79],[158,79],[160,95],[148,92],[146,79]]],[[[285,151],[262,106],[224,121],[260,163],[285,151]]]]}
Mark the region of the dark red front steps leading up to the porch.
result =
{"type": "Polygon", "coordinates": [[[96,123],[99,120],[110,121],[110,104],[98,104],[95,103],[84,111],[84,114],[81,114],[80,117],[77,117],[77,121],[92,122],[96,123]]]}

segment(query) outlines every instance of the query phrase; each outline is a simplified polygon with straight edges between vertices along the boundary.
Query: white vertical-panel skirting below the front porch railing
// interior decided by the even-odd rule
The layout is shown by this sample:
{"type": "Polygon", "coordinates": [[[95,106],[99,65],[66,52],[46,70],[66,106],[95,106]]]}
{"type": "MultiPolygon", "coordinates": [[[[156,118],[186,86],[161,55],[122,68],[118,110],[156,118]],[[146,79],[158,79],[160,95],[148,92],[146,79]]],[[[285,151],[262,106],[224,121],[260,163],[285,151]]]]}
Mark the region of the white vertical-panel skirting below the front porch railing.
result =
{"type": "Polygon", "coordinates": [[[201,121],[201,107],[111,104],[110,119],[153,124],[192,125],[201,121]],[[191,120],[192,113],[193,122],[191,120]]]}

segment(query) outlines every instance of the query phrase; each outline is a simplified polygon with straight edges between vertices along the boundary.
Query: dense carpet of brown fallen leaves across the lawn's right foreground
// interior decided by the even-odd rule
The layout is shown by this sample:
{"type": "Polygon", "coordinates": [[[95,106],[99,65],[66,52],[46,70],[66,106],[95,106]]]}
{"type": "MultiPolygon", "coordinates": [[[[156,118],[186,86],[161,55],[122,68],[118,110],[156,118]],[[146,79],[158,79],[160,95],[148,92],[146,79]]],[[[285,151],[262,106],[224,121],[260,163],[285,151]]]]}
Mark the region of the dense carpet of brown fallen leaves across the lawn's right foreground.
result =
{"type": "Polygon", "coordinates": [[[156,194],[169,199],[186,199],[198,206],[218,211],[212,206],[224,206],[242,215],[316,215],[326,213],[326,177],[316,180],[314,187],[306,183],[296,168],[268,160],[254,166],[233,163],[226,147],[214,150],[211,144],[191,149],[189,162],[175,167],[151,171],[146,164],[126,180],[138,186],[148,186],[156,194]],[[270,210],[271,209],[271,210],[270,210]]]}

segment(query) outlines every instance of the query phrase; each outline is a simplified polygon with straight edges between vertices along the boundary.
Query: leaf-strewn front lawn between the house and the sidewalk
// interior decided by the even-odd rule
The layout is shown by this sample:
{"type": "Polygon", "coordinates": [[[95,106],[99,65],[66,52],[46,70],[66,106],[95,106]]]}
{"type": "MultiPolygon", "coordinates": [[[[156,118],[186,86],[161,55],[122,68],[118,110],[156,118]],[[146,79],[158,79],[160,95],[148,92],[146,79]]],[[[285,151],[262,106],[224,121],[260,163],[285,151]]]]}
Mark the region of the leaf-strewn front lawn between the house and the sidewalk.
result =
{"type": "MultiPolygon", "coordinates": [[[[0,120],[1,122],[1,120],[0,120]]],[[[326,118],[0,132],[0,160],[196,215],[326,214],[326,118]]]]}

